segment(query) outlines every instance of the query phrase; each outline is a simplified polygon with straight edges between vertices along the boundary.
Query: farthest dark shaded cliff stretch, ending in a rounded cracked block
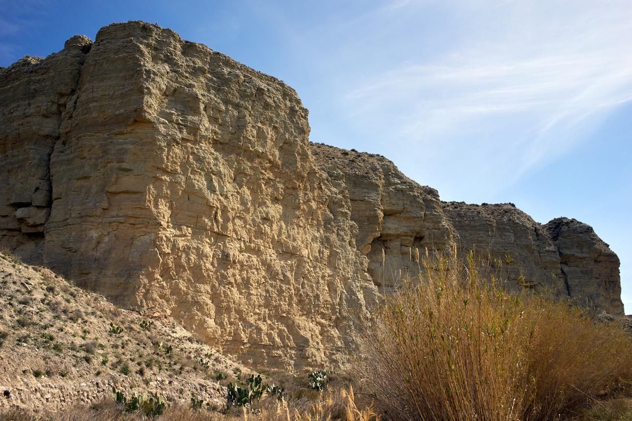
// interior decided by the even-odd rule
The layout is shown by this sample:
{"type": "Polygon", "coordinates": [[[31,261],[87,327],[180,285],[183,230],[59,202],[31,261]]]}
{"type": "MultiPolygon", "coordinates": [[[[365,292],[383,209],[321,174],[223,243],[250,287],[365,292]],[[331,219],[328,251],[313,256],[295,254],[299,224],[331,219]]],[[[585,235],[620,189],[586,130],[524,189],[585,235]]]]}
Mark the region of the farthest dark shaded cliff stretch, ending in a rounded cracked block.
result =
{"type": "Polygon", "coordinates": [[[450,202],[444,210],[461,249],[503,259],[503,275],[514,288],[534,288],[623,316],[619,258],[585,223],[557,218],[541,225],[511,203],[450,202]]]}

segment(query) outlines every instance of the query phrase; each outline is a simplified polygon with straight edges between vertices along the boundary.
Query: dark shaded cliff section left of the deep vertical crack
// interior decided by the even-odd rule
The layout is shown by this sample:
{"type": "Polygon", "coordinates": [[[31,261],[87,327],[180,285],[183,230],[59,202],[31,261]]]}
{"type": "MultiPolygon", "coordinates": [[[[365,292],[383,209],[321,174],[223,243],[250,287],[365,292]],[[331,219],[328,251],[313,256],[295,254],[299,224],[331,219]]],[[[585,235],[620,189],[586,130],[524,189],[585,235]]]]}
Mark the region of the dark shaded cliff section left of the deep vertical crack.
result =
{"type": "Polygon", "coordinates": [[[50,157],[76,100],[87,37],[0,69],[0,248],[40,258],[51,210],[50,157]]]}

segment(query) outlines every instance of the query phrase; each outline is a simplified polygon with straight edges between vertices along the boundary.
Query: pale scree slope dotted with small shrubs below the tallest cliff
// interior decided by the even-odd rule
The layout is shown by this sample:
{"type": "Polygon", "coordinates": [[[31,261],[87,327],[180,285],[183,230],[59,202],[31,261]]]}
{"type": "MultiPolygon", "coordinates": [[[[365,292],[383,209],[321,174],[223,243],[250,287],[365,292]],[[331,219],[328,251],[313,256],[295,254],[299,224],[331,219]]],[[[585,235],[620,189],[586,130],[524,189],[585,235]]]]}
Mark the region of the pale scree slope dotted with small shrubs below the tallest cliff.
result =
{"type": "Polygon", "coordinates": [[[0,408],[62,410],[111,399],[112,387],[222,408],[220,380],[250,373],[170,317],[121,310],[6,252],[0,309],[0,408]]]}

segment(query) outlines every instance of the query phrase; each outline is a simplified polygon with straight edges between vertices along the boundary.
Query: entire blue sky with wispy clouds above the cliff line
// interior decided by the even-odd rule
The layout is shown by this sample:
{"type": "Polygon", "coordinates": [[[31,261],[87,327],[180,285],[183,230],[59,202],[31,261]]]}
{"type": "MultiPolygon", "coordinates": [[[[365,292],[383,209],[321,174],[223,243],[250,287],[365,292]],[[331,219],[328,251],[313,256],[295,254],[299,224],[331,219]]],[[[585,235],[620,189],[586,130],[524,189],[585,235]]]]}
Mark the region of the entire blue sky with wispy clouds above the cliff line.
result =
{"type": "Polygon", "coordinates": [[[632,312],[629,0],[0,0],[0,66],[127,20],[286,81],[313,141],[381,153],[444,200],[589,223],[632,312]]]}

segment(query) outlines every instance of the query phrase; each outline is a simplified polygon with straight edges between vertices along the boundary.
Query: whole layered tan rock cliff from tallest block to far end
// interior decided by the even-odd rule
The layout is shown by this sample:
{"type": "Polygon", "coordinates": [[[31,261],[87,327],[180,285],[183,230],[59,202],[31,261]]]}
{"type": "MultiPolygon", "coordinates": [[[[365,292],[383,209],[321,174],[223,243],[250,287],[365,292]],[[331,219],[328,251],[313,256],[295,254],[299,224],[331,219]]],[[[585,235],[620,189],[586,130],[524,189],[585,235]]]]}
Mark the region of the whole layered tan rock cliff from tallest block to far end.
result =
{"type": "Polygon", "coordinates": [[[309,143],[296,92],[142,22],[0,69],[0,247],[252,364],[341,365],[416,247],[515,259],[622,314],[590,227],[443,203],[385,158],[309,143]]]}

